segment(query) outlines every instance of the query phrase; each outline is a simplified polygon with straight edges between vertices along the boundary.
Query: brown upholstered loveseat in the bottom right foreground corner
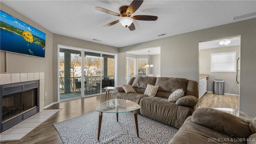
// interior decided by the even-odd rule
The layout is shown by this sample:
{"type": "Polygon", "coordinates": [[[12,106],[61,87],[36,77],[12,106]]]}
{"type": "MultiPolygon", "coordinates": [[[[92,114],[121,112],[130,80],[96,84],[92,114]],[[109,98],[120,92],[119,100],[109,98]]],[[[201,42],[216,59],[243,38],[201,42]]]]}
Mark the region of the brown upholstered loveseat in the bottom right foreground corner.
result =
{"type": "Polygon", "coordinates": [[[256,144],[256,118],[250,124],[227,112],[199,108],[169,144],[256,144]]]}

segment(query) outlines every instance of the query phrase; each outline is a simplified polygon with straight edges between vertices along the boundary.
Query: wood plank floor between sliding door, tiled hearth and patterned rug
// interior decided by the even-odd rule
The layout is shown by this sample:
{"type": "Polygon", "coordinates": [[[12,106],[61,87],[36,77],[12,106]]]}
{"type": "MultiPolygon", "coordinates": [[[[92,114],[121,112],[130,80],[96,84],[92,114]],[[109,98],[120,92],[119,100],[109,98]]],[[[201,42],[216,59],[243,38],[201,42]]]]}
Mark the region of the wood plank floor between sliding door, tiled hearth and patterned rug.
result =
{"type": "MultiPolygon", "coordinates": [[[[111,99],[111,94],[109,99],[111,99]]],[[[32,130],[20,141],[1,142],[1,144],[63,144],[58,132],[52,124],[94,112],[96,106],[98,106],[98,104],[104,100],[105,94],[102,94],[98,96],[80,98],[54,104],[47,109],[62,110],[32,130]]]]}

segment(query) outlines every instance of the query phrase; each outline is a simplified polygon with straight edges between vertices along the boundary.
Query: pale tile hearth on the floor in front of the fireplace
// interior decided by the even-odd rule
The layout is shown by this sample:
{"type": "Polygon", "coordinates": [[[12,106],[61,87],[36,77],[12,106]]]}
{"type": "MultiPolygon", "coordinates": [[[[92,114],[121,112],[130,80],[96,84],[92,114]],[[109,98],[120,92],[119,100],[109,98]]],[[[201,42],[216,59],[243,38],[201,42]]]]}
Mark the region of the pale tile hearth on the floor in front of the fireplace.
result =
{"type": "Polygon", "coordinates": [[[43,110],[42,112],[38,112],[37,114],[23,120],[22,122],[16,124],[12,128],[5,130],[0,134],[0,141],[7,140],[20,140],[26,134],[31,132],[34,128],[42,124],[48,118],[56,114],[60,109],[52,109],[52,110],[43,110]]]}

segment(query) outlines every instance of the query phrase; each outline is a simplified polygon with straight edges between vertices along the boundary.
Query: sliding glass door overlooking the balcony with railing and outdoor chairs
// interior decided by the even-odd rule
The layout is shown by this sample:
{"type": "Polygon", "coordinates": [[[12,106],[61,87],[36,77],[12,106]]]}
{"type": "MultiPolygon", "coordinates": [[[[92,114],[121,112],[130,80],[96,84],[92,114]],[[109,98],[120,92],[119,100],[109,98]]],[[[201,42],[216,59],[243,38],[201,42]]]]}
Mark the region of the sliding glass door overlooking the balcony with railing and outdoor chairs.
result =
{"type": "Polygon", "coordinates": [[[114,55],[60,48],[60,101],[105,92],[114,86],[115,71],[114,55]]]}

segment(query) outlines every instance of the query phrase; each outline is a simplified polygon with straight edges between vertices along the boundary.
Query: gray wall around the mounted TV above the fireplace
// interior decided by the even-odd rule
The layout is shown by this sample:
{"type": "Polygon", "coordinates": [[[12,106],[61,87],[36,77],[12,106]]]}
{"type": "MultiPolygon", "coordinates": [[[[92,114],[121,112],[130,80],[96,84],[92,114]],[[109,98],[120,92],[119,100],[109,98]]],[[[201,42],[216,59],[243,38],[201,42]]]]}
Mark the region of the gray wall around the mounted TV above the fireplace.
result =
{"type": "Polygon", "coordinates": [[[1,56],[1,72],[6,73],[30,73],[30,72],[44,72],[44,92],[47,92],[47,99],[44,102],[44,106],[51,104],[53,102],[53,94],[52,94],[52,40],[53,33],[49,30],[46,30],[42,26],[36,24],[32,20],[26,18],[10,7],[6,6],[3,3],[0,3],[0,9],[19,20],[41,30],[46,34],[46,46],[45,46],[45,58],[38,58],[34,56],[26,56],[23,54],[14,54],[10,52],[2,52],[0,51],[1,56]],[[5,57],[6,54],[6,62],[2,61],[2,56],[5,57]],[[6,70],[2,70],[5,69],[6,70]]]}

